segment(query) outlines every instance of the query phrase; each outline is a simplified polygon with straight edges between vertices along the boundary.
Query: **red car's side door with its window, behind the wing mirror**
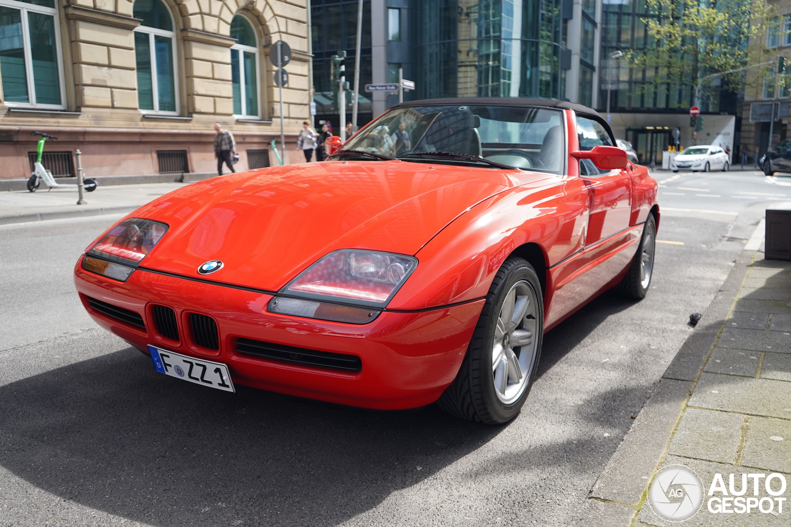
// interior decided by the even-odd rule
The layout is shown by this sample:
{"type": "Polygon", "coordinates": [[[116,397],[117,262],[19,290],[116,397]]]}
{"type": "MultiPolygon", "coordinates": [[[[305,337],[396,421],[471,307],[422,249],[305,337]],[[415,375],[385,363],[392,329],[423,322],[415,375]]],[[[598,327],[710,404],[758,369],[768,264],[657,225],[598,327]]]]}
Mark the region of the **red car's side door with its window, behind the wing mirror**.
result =
{"type": "MultiPolygon", "coordinates": [[[[612,146],[611,137],[599,122],[577,115],[580,150],[612,146]]],[[[590,217],[585,246],[598,243],[629,228],[631,177],[626,168],[600,170],[591,160],[580,160],[580,176],[590,194],[590,217]]]]}

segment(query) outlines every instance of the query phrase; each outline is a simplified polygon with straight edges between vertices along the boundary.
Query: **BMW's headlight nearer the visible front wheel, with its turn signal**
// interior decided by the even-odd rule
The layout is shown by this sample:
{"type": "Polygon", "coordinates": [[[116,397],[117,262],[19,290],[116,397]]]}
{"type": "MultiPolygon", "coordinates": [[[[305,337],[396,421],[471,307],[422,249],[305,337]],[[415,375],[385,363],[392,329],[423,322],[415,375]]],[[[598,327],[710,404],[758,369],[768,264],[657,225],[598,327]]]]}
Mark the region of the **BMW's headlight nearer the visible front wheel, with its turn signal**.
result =
{"type": "Polygon", "coordinates": [[[336,250],[291,280],[267,311],[361,324],[379,310],[316,302],[328,300],[365,307],[385,307],[418,265],[417,258],[372,250],[336,250]],[[287,297],[302,297],[289,299],[287,297]],[[307,300],[310,299],[310,300],[307,300]]]}

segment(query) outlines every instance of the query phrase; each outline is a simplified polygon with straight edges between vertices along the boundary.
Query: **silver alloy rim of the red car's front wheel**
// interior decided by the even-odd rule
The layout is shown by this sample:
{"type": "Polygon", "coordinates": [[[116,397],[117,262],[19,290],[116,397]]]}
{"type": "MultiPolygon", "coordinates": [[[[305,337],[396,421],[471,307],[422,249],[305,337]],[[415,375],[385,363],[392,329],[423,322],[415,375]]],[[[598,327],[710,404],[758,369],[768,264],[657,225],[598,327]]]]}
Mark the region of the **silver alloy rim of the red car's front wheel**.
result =
{"type": "Polygon", "coordinates": [[[536,363],[537,297],[532,285],[520,280],[505,295],[492,342],[494,392],[509,405],[528,386],[536,363]]]}

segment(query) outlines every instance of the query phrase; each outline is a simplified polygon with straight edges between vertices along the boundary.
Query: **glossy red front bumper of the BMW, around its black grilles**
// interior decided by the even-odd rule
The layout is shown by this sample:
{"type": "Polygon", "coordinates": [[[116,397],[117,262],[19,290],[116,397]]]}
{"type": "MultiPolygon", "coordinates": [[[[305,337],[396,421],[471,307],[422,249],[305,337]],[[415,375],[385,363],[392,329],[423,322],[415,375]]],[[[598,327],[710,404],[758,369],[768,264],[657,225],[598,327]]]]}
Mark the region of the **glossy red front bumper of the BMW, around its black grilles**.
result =
{"type": "MultiPolygon", "coordinates": [[[[384,311],[364,325],[327,322],[266,311],[271,295],[137,269],[122,283],[81,268],[74,284],[85,309],[102,327],[146,352],[148,344],[225,363],[233,382],[262,390],[365,408],[415,408],[436,401],[459,371],[483,300],[418,313],[384,311]],[[133,311],[145,328],[91,307],[88,298],[133,311]],[[153,305],[176,312],[179,341],[162,337],[153,305]],[[191,337],[190,314],[217,323],[219,350],[191,337]],[[361,371],[264,359],[237,351],[237,339],[359,356],[361,371]]],[[[153,367],[153,366],[152,366],[153,367]]],[[[163,378],[163,382],[165,379],[163,378]]]]}

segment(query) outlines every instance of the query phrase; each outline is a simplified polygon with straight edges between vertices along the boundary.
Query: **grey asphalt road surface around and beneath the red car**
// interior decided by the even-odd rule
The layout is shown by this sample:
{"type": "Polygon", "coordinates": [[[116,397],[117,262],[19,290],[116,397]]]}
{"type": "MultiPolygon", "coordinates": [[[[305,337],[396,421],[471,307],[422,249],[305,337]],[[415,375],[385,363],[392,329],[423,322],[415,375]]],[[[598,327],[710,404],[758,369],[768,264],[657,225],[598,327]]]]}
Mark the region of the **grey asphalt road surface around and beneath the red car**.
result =
{"type": "Polygon", "coordinates": [[[502,427],[159,375],[74,292],[115,218],[0,227],[0,525],[566,525],[763,209],[791,208],[791,178],[674,176],[657,172],[673,243],[648,297],[602,295],[547,333],[502,427]]]}

